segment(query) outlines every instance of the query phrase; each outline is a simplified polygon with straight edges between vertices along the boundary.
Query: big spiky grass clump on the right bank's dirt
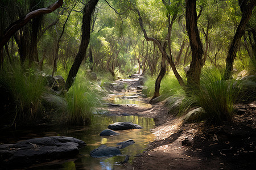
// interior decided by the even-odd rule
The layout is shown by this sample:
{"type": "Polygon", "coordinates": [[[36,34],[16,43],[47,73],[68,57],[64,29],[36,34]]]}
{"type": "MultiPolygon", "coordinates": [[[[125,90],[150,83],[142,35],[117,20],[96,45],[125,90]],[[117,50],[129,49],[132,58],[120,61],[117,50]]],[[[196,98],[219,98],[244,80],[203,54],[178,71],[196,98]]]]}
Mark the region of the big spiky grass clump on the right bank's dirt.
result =
{"type": "Polygon", "coordinates": [[[217,69],[204,70],[201,75],[201,89],[196,100],[205,111],[199,118],[209,124],[232,120],[234,104],[240,95],[240,82],[222,80],[222,75],[217,69]]]}

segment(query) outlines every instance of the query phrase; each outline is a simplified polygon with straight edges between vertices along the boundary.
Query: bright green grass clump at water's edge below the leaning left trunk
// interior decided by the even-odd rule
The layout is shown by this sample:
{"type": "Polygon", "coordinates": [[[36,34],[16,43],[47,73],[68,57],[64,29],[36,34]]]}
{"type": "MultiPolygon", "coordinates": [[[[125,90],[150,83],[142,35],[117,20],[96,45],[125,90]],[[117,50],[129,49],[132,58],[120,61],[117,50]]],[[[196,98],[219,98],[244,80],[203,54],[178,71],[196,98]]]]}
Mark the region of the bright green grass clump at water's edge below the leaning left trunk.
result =
{"type": "Polygon", "coordinates": [[[97,107],[101,107],[101,97],[93,90],[93,84],[81,75],[76,77],[75,82],[65,94],[67,100],[67,124],[89,124],[92,113],[97,107]]]}

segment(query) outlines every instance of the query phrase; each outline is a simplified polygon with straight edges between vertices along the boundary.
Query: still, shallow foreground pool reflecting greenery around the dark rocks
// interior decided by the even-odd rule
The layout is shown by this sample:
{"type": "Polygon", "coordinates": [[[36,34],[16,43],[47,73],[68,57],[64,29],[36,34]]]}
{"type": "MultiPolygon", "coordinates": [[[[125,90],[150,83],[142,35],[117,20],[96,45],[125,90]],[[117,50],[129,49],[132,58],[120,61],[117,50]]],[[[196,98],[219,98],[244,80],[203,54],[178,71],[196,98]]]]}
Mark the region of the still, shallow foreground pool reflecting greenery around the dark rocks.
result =
{"type": "MultiPolygon", "coordinates": [[[[95,115],[92,125],[74,126],[72,128],[48,128],[34,129],[27,131],[13,131],[10,134],[10,141],[19,139],[29,139],[34,137],[64,135],[80,139],[86,143],[86,146],[80,150],[77,158],[64,160],[63,162],[52,162],[30,167],[28,169],[124,169],[120,162],[123,162],[126,155],[130,156],[129,162],[134,159],[134,155],[141,154],[147,147],[149,142],[154,141],[154,134],[150,129],[154,128],[154,119],[138,116],[104,116],[95,115]],[[134,124],[143,126],[143,129],[134,130],[116,130],[120,135],[114,137],[100,137],[100,133],[104,129],[108,129],[108,125],[114,122],[130,121],[134,124]],[[134,145],[128,146],[121,150],[122,155],[113,156],[111,158],[92,158],[90,151],[101,145],[117,146],[119,142],[128,139],[134,140],[134,145]]],[[[10,142],[9,141],[9,142],[10,142]]],[[[13,141],[14,142],[14,141],[13,141]]]]}

